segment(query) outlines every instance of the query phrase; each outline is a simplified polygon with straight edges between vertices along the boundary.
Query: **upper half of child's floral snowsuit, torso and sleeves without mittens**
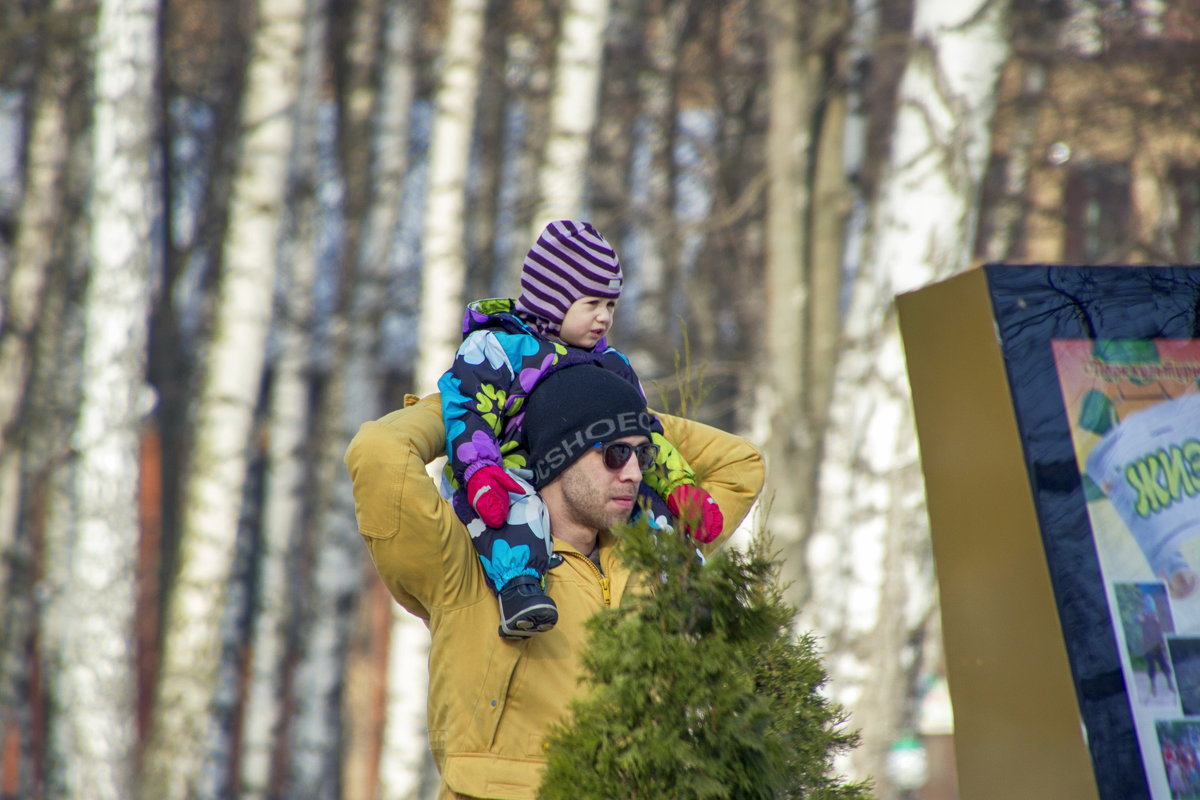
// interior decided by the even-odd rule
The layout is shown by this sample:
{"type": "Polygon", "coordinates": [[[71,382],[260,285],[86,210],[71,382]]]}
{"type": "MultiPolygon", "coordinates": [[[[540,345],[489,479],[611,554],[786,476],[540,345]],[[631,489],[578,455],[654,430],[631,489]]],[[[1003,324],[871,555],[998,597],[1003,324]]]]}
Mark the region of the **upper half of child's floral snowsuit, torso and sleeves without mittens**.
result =
{"type": "MultiPolygon", "coordinates": [[[[517,317],[514,305],[511,299],[496,297],[467,307],[462,345],[438,381],[446,421],[446,473],[455,488],[466,486],[487,465],[518,474],[528,470],[529,452],[521,427],[524,401],[551,372],[595,363],[642,391],[629,359],[608,347],[607,338],[590,350],[548,339],[517,317]]],[[[655,422],[650,440],[659,445],[658,468],[643,480],[666,500],[677,486],[695,483],[695,474],[662,435],[660,422],[655,422]]],[[[461,497],[457,503],[462,504],[461,497]]]]}

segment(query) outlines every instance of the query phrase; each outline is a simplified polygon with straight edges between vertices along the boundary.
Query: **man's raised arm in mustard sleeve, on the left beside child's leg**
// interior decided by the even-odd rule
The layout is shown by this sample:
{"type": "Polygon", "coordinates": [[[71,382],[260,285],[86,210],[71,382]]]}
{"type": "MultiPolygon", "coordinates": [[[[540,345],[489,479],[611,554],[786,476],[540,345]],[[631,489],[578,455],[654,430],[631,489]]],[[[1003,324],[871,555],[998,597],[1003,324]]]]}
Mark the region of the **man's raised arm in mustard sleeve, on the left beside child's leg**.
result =
{"type": "Polygon", "coordinates": [[[481,581],[470,537],[425,469],[444,447],[442,402],[431,395],[364,423],[346,451],[376,570],[396,601],[426,620],[481,581]]]}

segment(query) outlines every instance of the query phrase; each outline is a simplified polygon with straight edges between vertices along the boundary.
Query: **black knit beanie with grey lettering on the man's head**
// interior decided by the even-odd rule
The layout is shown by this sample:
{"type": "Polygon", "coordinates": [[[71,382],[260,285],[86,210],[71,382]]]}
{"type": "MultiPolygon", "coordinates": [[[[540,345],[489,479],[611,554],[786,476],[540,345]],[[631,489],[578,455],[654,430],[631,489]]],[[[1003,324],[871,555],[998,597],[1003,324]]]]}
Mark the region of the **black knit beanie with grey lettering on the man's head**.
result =
{"type": "Polygon", "coordinates": [[[650,435],[653,423],[642,392],[614,372],[586,363],[551,373],[526,401],[534,486],[550,483],[596,443],[650,435]]]}

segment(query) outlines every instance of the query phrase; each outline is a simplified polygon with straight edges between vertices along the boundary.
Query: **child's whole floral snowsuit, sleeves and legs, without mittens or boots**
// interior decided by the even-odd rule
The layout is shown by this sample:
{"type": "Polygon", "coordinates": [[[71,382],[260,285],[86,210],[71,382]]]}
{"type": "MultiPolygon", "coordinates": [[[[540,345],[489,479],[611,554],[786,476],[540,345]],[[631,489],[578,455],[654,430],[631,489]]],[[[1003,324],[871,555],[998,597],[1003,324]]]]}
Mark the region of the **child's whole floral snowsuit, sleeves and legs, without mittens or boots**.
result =
{"type": "MultiPolygon", "coordinates": [[[[530,482],[522,420],[524,401],[542,378],[568,366],[595,363],[641,391],[629,360],[600,339],[590,350],[539,335],[512,311],[511,299],[479,300],[463,317],[463,343],[454,363],[438,380],[442,416],[446,427],[448,463],[443,493],[470,533],[472,542],[493,590],[517,576],[541,578],[551,569],[553,546],[545,505],[530,482]],[[488,528],[466,497],[467,481],[476,470],[503,467],[524,493],[510,494],[506,523],[488,528]]],[[[643,475],[638,513],[649,510],[654,524],[673,524],[666,498],[696,476],[678,450],[662,437],[655,420],[650,441],[659,446],[656,467],[643,475]]]]}

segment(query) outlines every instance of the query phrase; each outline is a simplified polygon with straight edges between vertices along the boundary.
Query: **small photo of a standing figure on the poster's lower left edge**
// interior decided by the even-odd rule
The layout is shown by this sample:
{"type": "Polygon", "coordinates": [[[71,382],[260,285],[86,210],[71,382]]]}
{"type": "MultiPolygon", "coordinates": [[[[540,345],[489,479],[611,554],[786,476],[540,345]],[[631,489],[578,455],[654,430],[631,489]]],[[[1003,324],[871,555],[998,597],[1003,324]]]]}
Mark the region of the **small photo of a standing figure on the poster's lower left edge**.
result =
{"type": "Polygon", "coordinates": [[[1133,672],[1134,694],[1144,705],[1178,708],[1175,670],[1166,650],[1166,636],[1175,632],[1166,587],[1157,583],[1116,583],[1112,587],[1126,657],[1133,672]]]}

